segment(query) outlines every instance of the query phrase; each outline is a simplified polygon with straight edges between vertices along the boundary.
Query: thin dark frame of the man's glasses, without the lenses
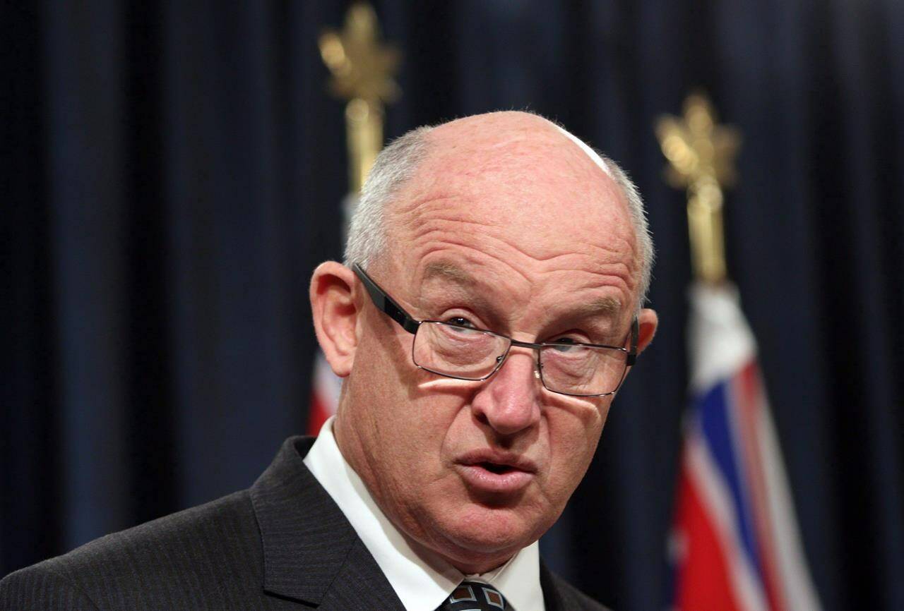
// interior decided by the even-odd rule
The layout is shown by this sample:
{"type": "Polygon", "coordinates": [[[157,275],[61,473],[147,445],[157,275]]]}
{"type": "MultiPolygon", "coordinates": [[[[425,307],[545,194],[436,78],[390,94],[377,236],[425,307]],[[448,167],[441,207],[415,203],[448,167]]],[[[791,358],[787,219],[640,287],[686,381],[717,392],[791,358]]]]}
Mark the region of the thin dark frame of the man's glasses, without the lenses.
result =
{"type": "Polygon", "coordinates": [[[630,330],[630,344],[626,348],[624,346],[607,346],[606,344],[584,344],[581,342],[575,342],[573,344],[566,344],[566,346],[574,346],[574,347],[594,347],[594,348],[608,348],[610,350],[620,350],[621,352],[626,353],[626,362],[625,362],[625,371],[622,373],[621,380],[618,381],[618,384],[613,391],[609,391],[608,393],[594,393],[594,394],[580,394],[580,393],[563,393],[561,391],[552,390],[549,386],[546,385],[546,380],[543,379],[543,365],[540,360],[540,350],[544,347],[560,347],[563,344],[557,344],[555,342],[541,342],[534,343],[529,341],[520,341],[518,339],[510,338],[506,335],[502,335],[501,333],[496,333],[489,329],[477,329],[475,327],[465,327],[463,325],[456,325],[451,322],[446,322],[444,320],[418,320],[411,316],[404,308],[402,308],[395,300],[393,300],[388,292],[383,291],[381,286],[375,282],[371,276],[367,275],[361,265],[352,264],[352,271],[358,276],[358,279],[364,285],[364,288],[367,290],[367,294],[371,296],[371,301],[373,301],[373,305],[377,307],[377,310],[381,310],[384,314],[389,316],[391,319],[395,320],[399,323],[402,329],[408,331],[411,335],[417,335],[418,329],[420,329],[420,325],[425,322],[440,324],[440,325],[448,325],[449,327],[457,327],[459,329],[467,329],[471,331],[479,331],[481,333],[486,333],[488,335],[492,335],[497,338],[504,338],[508,340],[509,346],[505,349],[505,353],[502,356],[496,357],[496,366],[493,368],[489,374],[473,378],[473,377],[461,377],[459,375],[450,375],[444,374],[442,372],[436,371],[434,369],[430,369],[429,367],[425,367],[419,365],[419,363],[414,359],[414,343],[411,344],[411,362],[414,363],[416,367],[419,369],[423,369],[424,371],[428,371],[431,374],[442,375],[443,377],[452,378],[455,380],[467,380],[469,382],[483,382],[484,380],[492,377],[497,371],[499,371],[505,363],[505,360],[508,358],[509,353],[512,351],[513,346],[517,347],[525,347],[530,348],[532,350],[537,351],[537,372],[540,375],[541,384],[543,384],[543,388],[550,391],[551,393],[565,394],[571,397],[605,397],[610,394],[615,394],[618,392],[618,389],[621,388],[622,384],[625,383],[625,378],[627,376],[627,370],[629,367],[635,365],[637,361],[637,337],[640,333],[639,324],[637,322],[637,317],[635,316],[631,322],[631,330],[630,330]]]}

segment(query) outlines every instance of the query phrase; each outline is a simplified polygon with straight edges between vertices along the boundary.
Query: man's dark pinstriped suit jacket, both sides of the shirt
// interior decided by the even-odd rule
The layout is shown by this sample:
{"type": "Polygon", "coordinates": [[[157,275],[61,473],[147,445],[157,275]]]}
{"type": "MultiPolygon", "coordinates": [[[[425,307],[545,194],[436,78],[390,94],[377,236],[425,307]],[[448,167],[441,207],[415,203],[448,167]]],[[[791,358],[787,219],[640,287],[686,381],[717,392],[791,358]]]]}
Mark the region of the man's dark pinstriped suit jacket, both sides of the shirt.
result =
{"type": "MultiPolygon", "coordinates": [[[[404,611],[294,437],[249,490],[44,560],[0,581],[0,609],[404,611]]],[[[602,609],[541,566],[548,611],[602,609]]]]}

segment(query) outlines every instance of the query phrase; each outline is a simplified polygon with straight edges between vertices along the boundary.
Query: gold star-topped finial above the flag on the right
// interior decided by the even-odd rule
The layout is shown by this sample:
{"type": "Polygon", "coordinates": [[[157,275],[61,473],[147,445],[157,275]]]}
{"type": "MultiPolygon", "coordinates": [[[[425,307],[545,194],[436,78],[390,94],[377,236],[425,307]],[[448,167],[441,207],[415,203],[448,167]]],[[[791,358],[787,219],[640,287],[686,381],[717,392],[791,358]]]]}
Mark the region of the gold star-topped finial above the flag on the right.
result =
{"type": "Polygon", "coordinates": [[[722,282],[727,277],[722,187],[737,180],[734,161],[740,134],[729,125],[717,125],[710,100],[695,93],[684,101],[682,118],[659,118],[656,136],[669,162],[666,180],[687,190],[694,275],[703,282],[722,282]]]}

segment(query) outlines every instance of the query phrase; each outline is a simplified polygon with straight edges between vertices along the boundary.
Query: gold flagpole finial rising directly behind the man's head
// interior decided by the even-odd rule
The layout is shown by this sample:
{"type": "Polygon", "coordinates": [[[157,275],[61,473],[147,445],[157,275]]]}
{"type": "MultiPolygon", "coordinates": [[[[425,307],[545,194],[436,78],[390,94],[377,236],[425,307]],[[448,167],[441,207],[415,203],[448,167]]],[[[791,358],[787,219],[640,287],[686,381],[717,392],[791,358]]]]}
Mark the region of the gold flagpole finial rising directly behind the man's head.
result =
{"type": "Polygon", "coordinates": [[[320,55],[333,73],[330,88],[345,106],[350,192],[357,194],[383,146],[383,105],[400,96],[393,75],[399,51],[380,42],[380,25],[370,5],[358,2],[345,15],[342,32],[320,36],[320,55]]]}

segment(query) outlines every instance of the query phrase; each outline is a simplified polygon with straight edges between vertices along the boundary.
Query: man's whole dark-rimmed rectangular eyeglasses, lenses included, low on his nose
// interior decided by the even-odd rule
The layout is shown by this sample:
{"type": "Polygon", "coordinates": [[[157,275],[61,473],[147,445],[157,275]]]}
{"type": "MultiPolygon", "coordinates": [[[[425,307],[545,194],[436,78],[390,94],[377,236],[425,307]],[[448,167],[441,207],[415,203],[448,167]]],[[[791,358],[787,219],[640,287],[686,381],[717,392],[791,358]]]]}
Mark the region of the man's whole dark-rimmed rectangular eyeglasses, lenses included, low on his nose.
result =
{"type": "Polygon", "coordinates": [[[554,342],[518,341],[486,329],[441,320],[417,320],[394,301],[359,264],[352,269],[371,296],[373,304],[402,329],[414,335],[414,364],[437,375],[458,380],[485,380],[503,366],[513,346],[537,351],[541,383],[553,393],[598,397],[616,393],[627,368],[637,358],[638,325],[631,323],[627,348],[583,344],[562,338],[554,342]]]}

